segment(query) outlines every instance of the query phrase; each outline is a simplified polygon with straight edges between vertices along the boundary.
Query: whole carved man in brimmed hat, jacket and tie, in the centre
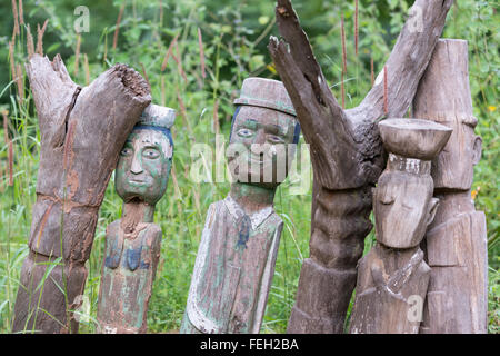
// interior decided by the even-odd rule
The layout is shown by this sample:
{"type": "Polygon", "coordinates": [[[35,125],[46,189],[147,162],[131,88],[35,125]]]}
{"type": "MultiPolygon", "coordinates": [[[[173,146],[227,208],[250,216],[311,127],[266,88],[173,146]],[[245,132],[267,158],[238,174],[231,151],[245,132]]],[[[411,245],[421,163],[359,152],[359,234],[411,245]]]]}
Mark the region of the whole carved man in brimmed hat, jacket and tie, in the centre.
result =
{"type": "Polygon", "coordinates": [[[283,222],[273,210],[300,127],[283,85],[243,81],[228,162],[233,182],[207,214],[181,333],[260,330],[283,222]]]}

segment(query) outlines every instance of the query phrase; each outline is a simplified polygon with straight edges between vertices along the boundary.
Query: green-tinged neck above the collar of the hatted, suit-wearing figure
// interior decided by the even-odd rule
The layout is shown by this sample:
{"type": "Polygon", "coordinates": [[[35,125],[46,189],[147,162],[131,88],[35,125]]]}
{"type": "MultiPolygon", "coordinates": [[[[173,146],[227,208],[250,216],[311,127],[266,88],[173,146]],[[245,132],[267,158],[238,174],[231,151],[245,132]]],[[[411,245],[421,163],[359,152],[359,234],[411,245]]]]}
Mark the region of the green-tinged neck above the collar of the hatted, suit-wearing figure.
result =
{"type": "Polygon", "coordinates": [[[276,189],[242,182],[232,184],[229,192],[231,198],[240,205],[247,215],[272,206],[274,201],[274,194],[276,189]]]}

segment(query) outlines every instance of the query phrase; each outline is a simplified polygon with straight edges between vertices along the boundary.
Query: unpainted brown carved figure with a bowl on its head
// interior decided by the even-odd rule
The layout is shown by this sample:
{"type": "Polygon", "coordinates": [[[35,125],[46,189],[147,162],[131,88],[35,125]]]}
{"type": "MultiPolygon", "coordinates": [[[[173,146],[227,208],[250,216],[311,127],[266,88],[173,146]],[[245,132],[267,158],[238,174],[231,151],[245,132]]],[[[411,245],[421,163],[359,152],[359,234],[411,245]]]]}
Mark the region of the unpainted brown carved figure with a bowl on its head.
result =
{"type": "Polygon", "coordinates": [[[427,120],[389,119],[379,130],[389,159],[373,191],[377,244],[359,261],[350,330],[418,334],[430,273],[420,243],[438,207],[431,160],[451,129],[427,120]]]}

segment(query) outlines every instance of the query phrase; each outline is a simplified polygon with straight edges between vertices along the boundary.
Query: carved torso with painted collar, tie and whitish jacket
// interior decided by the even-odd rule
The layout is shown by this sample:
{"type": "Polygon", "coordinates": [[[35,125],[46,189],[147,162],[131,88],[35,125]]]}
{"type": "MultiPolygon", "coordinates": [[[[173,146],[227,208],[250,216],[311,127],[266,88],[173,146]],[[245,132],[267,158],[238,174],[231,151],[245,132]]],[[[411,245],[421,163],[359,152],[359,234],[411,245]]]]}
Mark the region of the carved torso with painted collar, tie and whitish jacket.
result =
{"type": "Polygon", "coordinates": [[[228,196],[207,214],[181,333],[259,333],[282,221],[228,196]]]}

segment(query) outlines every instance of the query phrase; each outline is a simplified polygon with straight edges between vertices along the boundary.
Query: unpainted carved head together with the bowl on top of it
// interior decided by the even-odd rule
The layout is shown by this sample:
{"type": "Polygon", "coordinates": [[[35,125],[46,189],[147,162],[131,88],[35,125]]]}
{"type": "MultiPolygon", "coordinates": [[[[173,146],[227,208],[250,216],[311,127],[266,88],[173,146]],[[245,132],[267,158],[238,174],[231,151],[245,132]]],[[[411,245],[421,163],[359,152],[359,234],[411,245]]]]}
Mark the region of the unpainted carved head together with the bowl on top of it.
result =
{"type": "Polygon", "coordinates": [[[411,248],[420,244],[434,218],[439,200],[432,197],[430,161],[451,130],[419,119],[389,119],[379,129],[389,159],[373,191],[377,240],[411,248]]]}

